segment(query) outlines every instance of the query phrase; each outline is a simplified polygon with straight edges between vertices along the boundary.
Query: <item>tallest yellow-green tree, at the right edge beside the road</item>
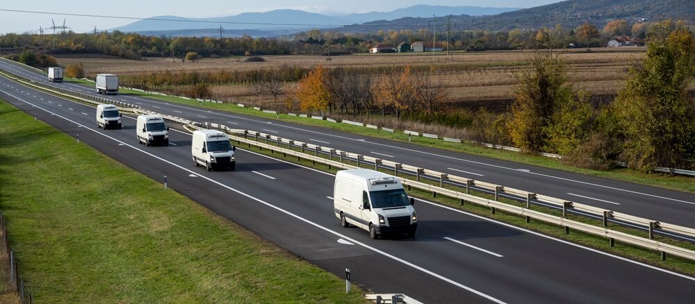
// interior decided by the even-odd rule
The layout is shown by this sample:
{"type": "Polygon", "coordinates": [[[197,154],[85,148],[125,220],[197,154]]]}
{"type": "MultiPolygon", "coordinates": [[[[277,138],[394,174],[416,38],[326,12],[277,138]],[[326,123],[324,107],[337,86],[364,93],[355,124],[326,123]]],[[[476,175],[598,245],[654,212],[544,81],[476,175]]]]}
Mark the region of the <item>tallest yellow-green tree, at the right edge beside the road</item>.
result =
{"type": "Polygon", "coordinates": [[[695,74],[695,37],[682,23],[653,24],[647,56],[632,67],[616,99],[626,137],[623,158],[640,171],[695,167],[695,99],[687,87],[695,74]]]}

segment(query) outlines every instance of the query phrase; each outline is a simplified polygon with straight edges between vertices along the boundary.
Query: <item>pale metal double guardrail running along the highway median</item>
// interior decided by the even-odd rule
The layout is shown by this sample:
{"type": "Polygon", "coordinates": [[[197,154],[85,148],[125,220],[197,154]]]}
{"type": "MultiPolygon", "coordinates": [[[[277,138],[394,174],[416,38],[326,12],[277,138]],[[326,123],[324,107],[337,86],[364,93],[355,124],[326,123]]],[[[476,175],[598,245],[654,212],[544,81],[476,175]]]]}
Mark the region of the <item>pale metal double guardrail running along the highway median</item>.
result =
{"type": "Polygon", "coordinates": [[[99,103],[111,103],[117,105],[121,110],[124,110],[124,112],[131,112],[133,114],[159,115],[167,121],[171,121],[177,124],[178,126],[183,127],[184,130],[188,130],[189,128],[216,128],[218,130],[223,130],[224,132],[228,133],[230,139],[238,142],[239,144],[243,142],[245,144],[249,144],[250,146],[253,145],[263,149],[270,149],[271,151],[277,151],[279,153],[284,153],[285,155],[295,155],[298,159],[304,158],[306,160],[311,160],[312,162],[327,164],[329,167],[348,169],[360,166],[370,166],[374,169],[393,171],[393,175],[398,176],[401,179],[402,183],[404,185],[407,185],[407,187],[409,188],[416,187],[417,189],[422,189],[427,192],[431,192],[434,196],[436,196],[436,194],[441,194],[444,196],[459,199],[461,203],[463,203],[464,201],[468,201],[477,205],[484,205],[488,208],[491,208],[491,212],[493,213],[495,212],[495,210],[498,209],[508,212],[510,214],[517,214],[521,217],[525,217],[527,221],[530,221],[530,219],[537,219],[546,223],[552,223],[557,226],[564,227],[566,233],[569,233],[569,229],[571,228],[574,230],[582,231],[584,233],[589,233],[591,235],[598,235],[600,237],[605,237],[609,239],[611,245],[614,244],[615,240],[617,240],[619,242],[648,248],[660,252],[662,255],[662,260],[666,258],[667,254],[683,257],[688,260],[695,260],[695,251],[691,251],[687,248],[682,248],[671,244],[657,242],[653,239],[654,235],[662,235],[665,237],[671,237],[672,239],[685,240],[687,242],[695,242],[695,229],[693,228],[677,226],[669,223],[662,223],[660,221],[655,221],[651,219],[634,217],[629,214],[614,212],[612,210],[605,210],[590,205],[583,205],[572,201],[556,199],[550,196],[534,194],[531,192],[523,191],[521,189],[504,187],[502,185],[494,185],[479,180],[473,180],[471,178],[453,176],[451,174],[444,174],[439,171],[418,168],[415,166],[401,164],[398,162],[382,160],[366,155],[359,155],[357,153],[350,153],[348,151],[340,151],[338,149],[326,148],[315,144],[288,140],[281,137],[277,137],[275,135],[269,135],[249,130],[235,130],[220,124],[199,123],[180,117],[161,115],[154,111],[143,110],[137,105],[131,105],[129,103],[112,101],[111,99],[104,99],[98,96],[91,96],[88,94],[76,93],[57,87],[42,85],[33,81],[26,81],[23,78],[19,78],[17,76],[9,76],[6,73],[0,74],[3,74],[4,76],[12,79],[17,83],[22,83],[30,87],[35,87],[39,90],[42,90],[43,92],[48,92],[49,94],[61,96],[63,98],[71,99],[76,102],[85,103],[92,106],[95,106],[99,103]],[[250,139],[250,136],[253,137],[253,140],[250,139]],[[261,142],[260,140],[264,140],[265,143],[261,142]],[[270,142],[274,142],[275,145],[270,144],[270,142]],[[287,146],[287,148],[284,148],[285,145],[287,146]],[[293,148],[299,149],[300,151],[295,151],[293,150],[293,148]],[[313,155],[309,154],[308,152],[313,152],[313,155]],[[336,160],[334,160],[334,158],[336,160]],[[357,166],[352,166],[350,164],[344,163],[348,161],[355,162],[357,166]],[[407,178],[405,178],[404,176],[407,176],[407,178]],[[438,182],[439,186],[432,185],[430,183],[425,183],[425,181],[430,183],[438,182]],[[446,189],[445,186],[457,187],[457,189],[461,189],[464,191],[446,189]],[[495,199],[483,199],[479,196],[473,196],[470,194],[471,190],[493,195],[495,199]],[[498,199],[500,198],[511,199],[514,201],[525,203],[525,207],[511,205],[509,203],[502,203],[498,201],[498,199]],[[555,210],[562,210],[563,215],[562,217],[558,217],[536,210],[531,210],[530,208],[532,207],[532,205],[539,205],[555,210]],[[566,219],[567,214],[576,214],[583,217],[590,217],[592,219],[601,219],[603,222],[603,227],[566,219]],[[629,235],[628,233],[622,233],[616,230],[612,230],[608,228],[609,223],[648,231],[649,238],[637,237],[635,235],[629,235]]]}

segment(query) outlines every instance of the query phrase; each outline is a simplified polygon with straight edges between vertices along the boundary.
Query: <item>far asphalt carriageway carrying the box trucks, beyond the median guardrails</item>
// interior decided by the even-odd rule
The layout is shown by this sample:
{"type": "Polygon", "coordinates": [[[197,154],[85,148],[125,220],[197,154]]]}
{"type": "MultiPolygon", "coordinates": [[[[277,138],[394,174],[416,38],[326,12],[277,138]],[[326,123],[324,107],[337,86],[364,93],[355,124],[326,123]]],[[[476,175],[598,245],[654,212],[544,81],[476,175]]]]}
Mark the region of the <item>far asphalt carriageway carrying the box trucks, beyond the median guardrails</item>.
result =
{"type": "MultiPolygon", "coordinates": [[[[0,69],[13,74],[48,83],[47,76],[16,62],[0,60],[0,69]]],[[[94,87],[75,83],[51,83],[75,92],[97,95],[94,87]]],[[[102,96],[103,95],[98,95],[102,96]]],[[[665,223],[694,227],[695,194],[659,187],[638,185],[608,178],[598,178],[566,171],[495,160],[477,155],[455,153],[407,143],[379,140],[325,128],[292,124],[232,112],[215,111],[190,105],[168,103],[141,96],[120,94],[106,96],[116,101],[140,105],[167,115],[193,121],[224,124],[230,128],[246,128],[263,133],[300,140],[321,146],[393,160],[452,175],[496,183],[568,201],[632,214],[665,223]]]]}

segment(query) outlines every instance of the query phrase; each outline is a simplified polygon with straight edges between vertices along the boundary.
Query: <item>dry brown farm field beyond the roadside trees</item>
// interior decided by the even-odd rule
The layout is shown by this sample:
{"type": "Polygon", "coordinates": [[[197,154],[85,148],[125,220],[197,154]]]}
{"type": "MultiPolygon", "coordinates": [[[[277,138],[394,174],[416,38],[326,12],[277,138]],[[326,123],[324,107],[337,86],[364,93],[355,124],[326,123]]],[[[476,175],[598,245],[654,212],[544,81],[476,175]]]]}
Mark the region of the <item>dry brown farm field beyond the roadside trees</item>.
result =
{"type": "MultiPolygon", "coordinates": [[[[592,95],[605,96],[616,94],[623,87],[628,68],[641,61],[645,48],[597,48],[565,49],[557,53],[566,60],[571,83],[592,95]]],[[[311,68],[316,65],[324,67],[354,67],[371,69],[373,67],[445,67],[445,71],[436,74],[449,88],[449,98],[457,106],[464,108],[486,107],[491,110],[505,110],[512,101],[512,73],[518,65],[528,58],[524,51],[484,51],[454,52],[451,56],[431,53],[407,54],[359,54],[352,56],[263,56],[265,62],[244,62],[243,57],[202,59],[197,62],[175,62],[171,58],[145,58],[145,60],[127,60],[113,56],[74,54],[56,56],[58,64],[72,65],[82,62],[88,76],[97,73],[120,75],[147,74],[154,71],[247,71],[252,69],[269,69],[279,65],[295,65],[311,68]]],[[[377,75],[370,75],[377,77],[377,75]]],[[[272,97],[250,96],[243,85],[224,85],[213,87],[214,98],[223,101],[244,102],[263,105],[266,108],[287,110],[284,107],[286,96],[293,96],[295,83],[286,85],[285,94],[277,102],[272,97]]]]}

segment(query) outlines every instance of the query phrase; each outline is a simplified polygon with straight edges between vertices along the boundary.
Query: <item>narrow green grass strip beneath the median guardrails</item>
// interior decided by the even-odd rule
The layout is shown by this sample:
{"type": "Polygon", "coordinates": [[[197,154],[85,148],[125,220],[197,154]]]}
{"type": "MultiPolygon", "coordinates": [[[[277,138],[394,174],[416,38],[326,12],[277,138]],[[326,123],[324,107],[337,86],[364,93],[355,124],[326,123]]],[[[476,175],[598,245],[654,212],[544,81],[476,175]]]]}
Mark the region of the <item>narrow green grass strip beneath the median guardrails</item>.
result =
{"type": "MultiPolygon", "coordinates": [[[[261,142],[264,142],[261,140],[261,142]]],[[[263,149],[259,150],[258,148],[248,148],[247,145],[245,144],[240,144],[240,147],[243,147],[244,149],[252,149],[253,151],[263,153],[265,155],[272,155],[274,158],[279,158],[281,160],[286,160],[288,162],[295,162],[298,164],[302,164],[303,166],[306,167],[311,167],[314,169],[319,169],[322,171],[326,171],[332,174],[335,174],[338,169],[336,168],[331,168],[329,169],[327,165],[324,164],[313,164],[311,161],[297,161],[296,157],[293,156],[287,156],[283,157],[281,153],[271,153],[268,149],[263,149]]],[[[283,146],[286,148],[286,146],[283,146]]],[[[295,151],[299,151],[300,149],[293,148],[295,151]]],[[[308,153],[311,154],[311,151],[308,151],[308,153]]],[[[334,157],[334,160],[337,160],[334,157]]],[[[355,162],[345,162],[348,164],[355,165],[355,162]]],[[[366,166],[361,166],[361,167],[366,167],[366,166]]],[[[373,169],[373,167],[370,167],[370,169],[373,169]]],[[[385,171],[385,170],[380,170],[384,171],[387,174],[393,174],[393,171],[385,171]]],[[[427,182],[425,180],[422,180],[425,183],[430,183],[432,185],[436,185],[436,182],[427,182]]],[[[456,188],[450,185],[445,186],[448,189],[457,189],[459,191],[463,191],[462,188],[456,188]]],[[[605,251],[607,253],[614,253],[616,255],[621,255],[623,257],[628,257],[632,260],[637,260],[640,262],[644,262],[646,264],[652,264],[657,267],[662,267],[664,269],[670,269],[673,271],[677,271],[680,273],[685,273],[689,276],[695,276],[695,262],[690,261],[690,260],[685,260],[680,257],[673,257],[673,256],[668,256],[667,260],[662,261],[661,260],[661,255],[660,253],[656,251],[651,251],[645,248],[637,247],[637,246],[631,246],[628,244],[621,244],[620,242],[615,242],[615,246],[611,247],[608,239],[605,239],[603,237],[598,237],[596,235],[590,235],[588,233],[581,233],[578,231],[572,231],[569,233],[569,235],[564,234],[564,228],[555,226],[550,223],[544,223],[542,221],[537,221],[537,220],[531,220],[530,223],[526,223],[525,217],[519,217],[516,214],[509,214],[507,212],[502,212],[500,210],[497,210],[495,214],[492,214],[490,208],[481,206],[481,205],[475,205],[470,202],[464,203],[464,205],[461,205],[458,199],[452,199],[447,196],[442,196],[438,195],[436,197],[432,197],[431,192],[427,192],[424,190],[420,189],[415,189],[411,188],[409,190],[409,194],[411,196],[418,197],[420,199],[425,199],[427,201],[432,201],[435,203],[440,203],[442,205],[447,205],[452,208],[457,208],[459,210],[464,210],[466,212],[471,212],[473,214],[478,214],[483,217],[488,217],[491,219],[496,219],[498,221],[502,221],[505,223],[512,224],[513,226],[521,227],[521,228],[526,228],[529,230],[534,230],[539,233],[543,233],[545,235],[550,235],[553,237],[557,237],[559,239],[566,239],[570,242],[573,242],[575,244],[581,244],[584,246],[588,246],[591,248],[596,248],[600,251],[605,251]]],[[[493,199],[493,195],[491,194],[483,194],[482,192],[471,192],[471,194],[475,196],[480,196],[485,199],[493,199]]],[[[525,204],[519,203],[518,201],[512,201],[509,199],[500,199],[500,202],[502,203],[509,203],[510,205],[516,205],[516,206],[523,206],[525,204]]],[[[549,208],[544,208],[541,206],[532,206],[532,210],[538,210],[541,212],[545,212],[548,214],[553,214],[555,216],[562,216],[562,211],[561,210],[551,210],[549,208]]],[[[586,217],[580,217],[580,216],[575,216],[572,214],[569,214],[567,216],[568,219],[572,219],[574,221],[581,221],[582,223],[590,223],[595,226],[601,226],[601,221],[598,221],[596,219],[588,219],[586,217]]],[[[630,233],[632,235],[637,235],[639,237],[648,237],[647,233],[642,230],[636,230],[632,228],[626,228],[623,226],[618,226],[616,224],[610,224],[609,226],[613,230],[621,231],[623,233],[630,233]]],[[[661,237],[659,235],[655,236],[655,239],[659,242],[664,242],[667,244],[673,244],[676,246],[681,246],[683,248],[688,248],[690,250],[695,250],[695,244],[691,244],[689,242],[682,242],[682,241],[676,241],[674,239],[669,239],[667,237],[661,237]]]]}

